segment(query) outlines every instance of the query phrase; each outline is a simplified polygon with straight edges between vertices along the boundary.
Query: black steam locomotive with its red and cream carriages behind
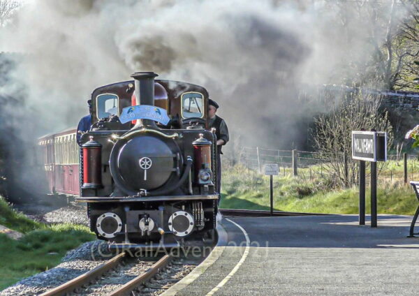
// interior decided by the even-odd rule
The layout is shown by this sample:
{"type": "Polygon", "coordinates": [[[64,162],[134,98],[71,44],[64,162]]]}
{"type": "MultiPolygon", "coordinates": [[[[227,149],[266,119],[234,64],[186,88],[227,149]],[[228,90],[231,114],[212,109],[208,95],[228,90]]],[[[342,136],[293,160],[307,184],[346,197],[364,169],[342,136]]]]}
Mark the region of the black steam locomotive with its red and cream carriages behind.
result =
{"type": "Polygon", "coordinates": [[[86,202],[91,231],[110,249],[177,247],[214,235],[219,188],[208,93],[156,76],[138,72],[95,89],[81,149],[74,129],[39,139],[50,193],[86,202]]]}

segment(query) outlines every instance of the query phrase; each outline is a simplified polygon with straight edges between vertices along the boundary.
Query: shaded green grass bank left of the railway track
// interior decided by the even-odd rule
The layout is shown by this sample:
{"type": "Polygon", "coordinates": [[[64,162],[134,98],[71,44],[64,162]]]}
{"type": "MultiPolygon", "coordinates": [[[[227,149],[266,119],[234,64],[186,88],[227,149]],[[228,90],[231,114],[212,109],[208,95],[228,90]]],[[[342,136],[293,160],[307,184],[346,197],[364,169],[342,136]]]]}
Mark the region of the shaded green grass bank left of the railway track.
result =
{"type": "Polygon", "coordinates": [[[0,198],[0,221],[25,234],[18,241],[0,235],[0,290],[56,266],[67,251],[94,239],[86,226],[31,221],[8,207],[3,198],[0,198]]]}

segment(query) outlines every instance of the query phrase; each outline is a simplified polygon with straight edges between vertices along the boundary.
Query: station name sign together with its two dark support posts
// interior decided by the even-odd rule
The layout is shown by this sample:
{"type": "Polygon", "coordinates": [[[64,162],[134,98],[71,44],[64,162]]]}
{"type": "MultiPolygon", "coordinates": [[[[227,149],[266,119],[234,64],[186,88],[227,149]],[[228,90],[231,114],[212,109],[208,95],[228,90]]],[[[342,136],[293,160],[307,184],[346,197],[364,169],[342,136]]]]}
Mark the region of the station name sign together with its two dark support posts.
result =
{"type": "Polygon", "coordinates": [[[387,133],[352,132],[352,158],[360,161],[360,225],[365,225],[365,161],[371,163],[371,227],[377,227],[377,161],[387,161],[387,133]]]}

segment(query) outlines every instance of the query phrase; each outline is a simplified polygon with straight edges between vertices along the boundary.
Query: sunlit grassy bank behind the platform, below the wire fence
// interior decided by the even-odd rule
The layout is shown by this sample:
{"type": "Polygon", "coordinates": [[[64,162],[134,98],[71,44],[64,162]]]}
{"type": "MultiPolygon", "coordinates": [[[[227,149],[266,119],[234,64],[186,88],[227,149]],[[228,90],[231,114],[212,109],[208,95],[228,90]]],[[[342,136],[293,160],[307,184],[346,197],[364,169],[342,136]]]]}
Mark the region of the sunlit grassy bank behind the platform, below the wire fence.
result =
{"type": "MultiPolygon", "coordinates": [[[[403,168],[378,177],[378,213],[413,215],[418,207],[413,189],[399,181],[403,168]],[[391,174],[391,179],[390,179],[391,174]],[[398,179],[397,179],[398,178],[398,179]]],[[[316,168],[314,168],[316,169],[316,168]]],[[[306,174],[307,176],[307,174],[306,174]]],[[[419,177],[419,176],[418,176],[419,177]]],[[[358,214],[358,188],[330,190],[321,178],[303,179],[290,175],[274,176],[274,209],[290,212],[358,214]]],[[[367,212],[369,188],[367,188],[367,212]]],[[[270,209],[269,177],[241,166],[223,172],[221,207],[229,209],[270,209]]]]}

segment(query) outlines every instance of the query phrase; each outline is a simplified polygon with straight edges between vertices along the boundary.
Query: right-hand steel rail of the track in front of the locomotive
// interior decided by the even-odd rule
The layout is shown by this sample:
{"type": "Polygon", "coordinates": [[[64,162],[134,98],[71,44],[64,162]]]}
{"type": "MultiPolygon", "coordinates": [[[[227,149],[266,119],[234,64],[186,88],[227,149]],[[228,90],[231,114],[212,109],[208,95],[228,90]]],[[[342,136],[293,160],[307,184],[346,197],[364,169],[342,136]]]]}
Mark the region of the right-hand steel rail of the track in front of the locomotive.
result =
{"type": "Polygon", "coordinates": [[[154,265],[152,265],[152,267],[147,269],[144,273],[135,277],[135,279],[128,281],[128,283],[125,283],[122,287],[119,287],[117,290],[108,294],[108,296],[129,295],[135,288],[140,286],[142,283],[145,283],[149,279],[152,279],[153,276],[158,274],[161,271],[161,269],[168,265],[171,259],[172,258],[169,255],[163,256],[159,261],[154,263],[154,265]]]}

